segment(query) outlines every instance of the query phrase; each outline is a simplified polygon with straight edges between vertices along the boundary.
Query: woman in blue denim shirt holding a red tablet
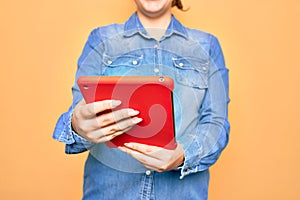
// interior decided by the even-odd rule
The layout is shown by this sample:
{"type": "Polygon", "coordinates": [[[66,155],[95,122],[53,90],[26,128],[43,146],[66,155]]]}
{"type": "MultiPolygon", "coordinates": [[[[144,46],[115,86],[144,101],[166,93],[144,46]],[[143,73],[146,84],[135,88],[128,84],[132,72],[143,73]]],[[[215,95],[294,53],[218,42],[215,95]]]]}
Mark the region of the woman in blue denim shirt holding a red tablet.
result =
{"type": "Polygon", "coordinates": [[[53,137],[66,153],[90,150],[83,199],[207,199],[209,167],[228,142],[228,70],[218,40],[184,27],[171,8],[181,1],[135,0],[124,24],[92,31],[78,61],[80,76],[170,76],[177,148],[105,142],[143,119],[118,100],[86,104],[75,82],[73,104],[53,137]],[[111,113],[103,112],[115,108],[111,113]]]}

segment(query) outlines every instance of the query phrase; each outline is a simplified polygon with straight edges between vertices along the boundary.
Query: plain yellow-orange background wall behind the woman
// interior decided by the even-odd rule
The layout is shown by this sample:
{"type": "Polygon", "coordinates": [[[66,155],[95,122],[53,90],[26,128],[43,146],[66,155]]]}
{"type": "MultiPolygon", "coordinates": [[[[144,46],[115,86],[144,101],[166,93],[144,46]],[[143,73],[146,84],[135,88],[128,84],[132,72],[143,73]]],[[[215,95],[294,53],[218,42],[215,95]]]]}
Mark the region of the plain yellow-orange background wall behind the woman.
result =
{"type": "MultiPolygon", "coordinates": [[[[176,16],[216,35],[230,68],[231,140],[210,200],[300,199],[300,3],[183,0],[176,16]]],[[[0,199],[80,199],[86,153],[51,139],[71,103],[89,32],[125,21],[133,0],[1,1],[0,199]]]]}

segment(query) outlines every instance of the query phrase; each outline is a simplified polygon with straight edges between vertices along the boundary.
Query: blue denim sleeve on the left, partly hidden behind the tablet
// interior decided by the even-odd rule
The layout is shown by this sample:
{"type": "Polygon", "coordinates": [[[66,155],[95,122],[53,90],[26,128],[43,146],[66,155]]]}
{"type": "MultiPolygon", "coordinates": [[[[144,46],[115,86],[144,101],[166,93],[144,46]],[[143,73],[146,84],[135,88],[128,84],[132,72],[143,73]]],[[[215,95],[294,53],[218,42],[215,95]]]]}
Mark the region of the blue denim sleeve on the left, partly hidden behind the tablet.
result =
{"type": "Polygon", "coordinates": [[[90,149],[94,144],[78,135],[72,129],[72,114],[75,106],[82,100],[82,95],[77,85],[80,76],[97,76],[100,74],[102,61],[102,41],[99,29],[91,32],[78,60],[75,83],[72,87],[73,101],[69,110],[63,113],[55,126],[53,138],[66,144],[67,154],[81,153],[90,149]]]}

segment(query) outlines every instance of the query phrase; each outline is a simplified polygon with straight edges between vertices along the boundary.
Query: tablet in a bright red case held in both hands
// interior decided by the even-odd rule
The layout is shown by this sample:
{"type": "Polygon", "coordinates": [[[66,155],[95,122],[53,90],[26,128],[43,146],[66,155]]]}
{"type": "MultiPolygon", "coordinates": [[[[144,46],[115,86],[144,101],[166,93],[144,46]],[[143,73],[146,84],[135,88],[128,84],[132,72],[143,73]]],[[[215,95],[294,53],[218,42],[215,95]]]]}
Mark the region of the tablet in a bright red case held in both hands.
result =
{"type": "Polygon", "coordinates": [[[143,119],[132,129],[106,142],[111,148],[136,142],[175,149],[173,89],[167,76],[82,76],[77,80],[86,103],[121,100],[115,109],[132,108],[143,119]]]}

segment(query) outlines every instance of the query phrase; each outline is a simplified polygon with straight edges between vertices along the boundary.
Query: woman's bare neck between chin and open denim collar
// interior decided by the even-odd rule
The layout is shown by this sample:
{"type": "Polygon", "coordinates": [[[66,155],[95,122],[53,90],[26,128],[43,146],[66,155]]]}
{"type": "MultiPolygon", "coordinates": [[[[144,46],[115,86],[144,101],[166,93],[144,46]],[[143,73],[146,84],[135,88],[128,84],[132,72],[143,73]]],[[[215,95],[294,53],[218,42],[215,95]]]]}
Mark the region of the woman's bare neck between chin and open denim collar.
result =
{"type": "Polygon", "coordinates": [[[146,28],[167,29],[172,18],[171,12],[167,12],[159,17],[149,17],[140,12],[137,12],[137,15],[143,26],[146,28]]]}

